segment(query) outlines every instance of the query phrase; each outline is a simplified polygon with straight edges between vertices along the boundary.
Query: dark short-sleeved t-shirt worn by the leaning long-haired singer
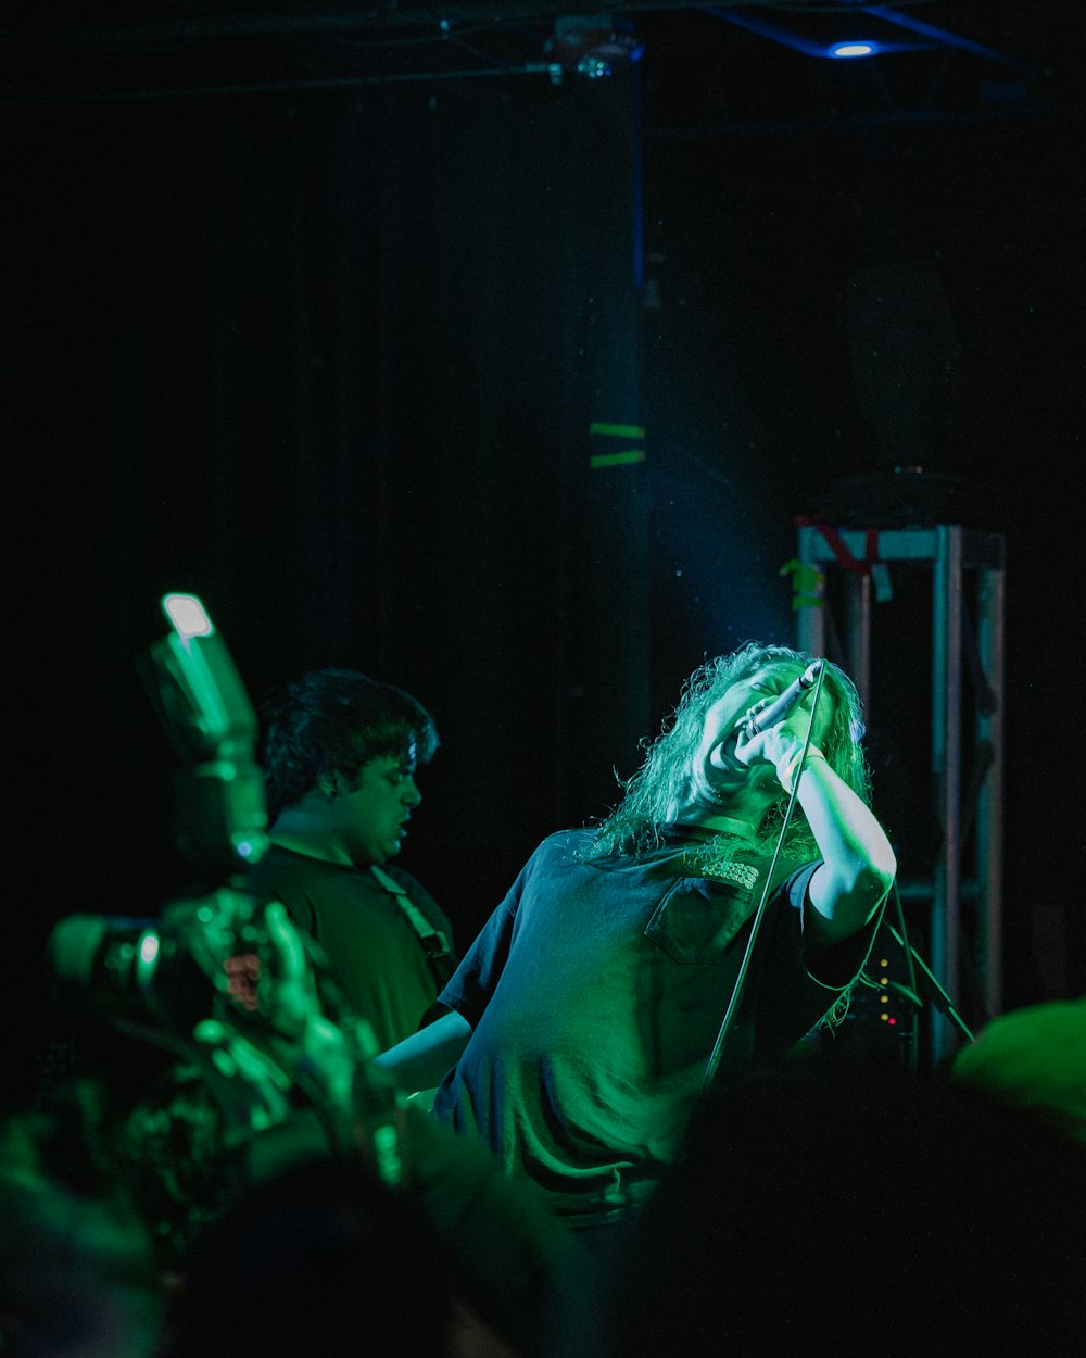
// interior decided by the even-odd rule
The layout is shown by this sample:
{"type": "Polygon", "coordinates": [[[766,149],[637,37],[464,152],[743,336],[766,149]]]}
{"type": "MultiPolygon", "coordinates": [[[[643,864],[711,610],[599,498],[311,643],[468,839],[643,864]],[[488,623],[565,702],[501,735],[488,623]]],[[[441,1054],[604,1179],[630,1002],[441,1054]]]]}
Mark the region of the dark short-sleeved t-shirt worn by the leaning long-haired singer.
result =
{"type": "MultiPolygon", "coordinates": [[[[536,849],[443,991],[472,1035],[434,1100],[582,1222],[637,1207],[679,1153],[768,869],[732,842],[706,876],[702,831],[585,862],[588,842],[536,849]]],[[[817,866],[778,866],[722,1071],[782,1059],[863,964],[877,918],[808,953],[817,866]]]]}

